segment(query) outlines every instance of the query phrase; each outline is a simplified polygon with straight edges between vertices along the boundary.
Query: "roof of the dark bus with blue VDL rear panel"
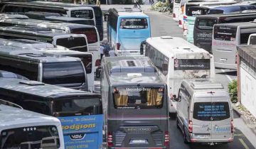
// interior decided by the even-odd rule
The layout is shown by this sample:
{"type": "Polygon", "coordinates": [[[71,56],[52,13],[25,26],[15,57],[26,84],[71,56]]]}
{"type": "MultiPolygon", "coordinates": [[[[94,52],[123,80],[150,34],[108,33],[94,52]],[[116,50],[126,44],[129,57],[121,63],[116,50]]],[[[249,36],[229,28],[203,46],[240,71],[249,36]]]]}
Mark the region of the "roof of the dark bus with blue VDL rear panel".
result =
{"type": "Polygon", "coordinates": [[[95,96],[100,98],[100,94],[83,92],[77,89],[67,87],[58,87],[55,85],[44,84],[43,82],[22,80],[22,79],[4,79],[0,78],[0,89],[10,89],[16,92],[24,92],[45,98],[58,100],[60,98],[95,96]]]}

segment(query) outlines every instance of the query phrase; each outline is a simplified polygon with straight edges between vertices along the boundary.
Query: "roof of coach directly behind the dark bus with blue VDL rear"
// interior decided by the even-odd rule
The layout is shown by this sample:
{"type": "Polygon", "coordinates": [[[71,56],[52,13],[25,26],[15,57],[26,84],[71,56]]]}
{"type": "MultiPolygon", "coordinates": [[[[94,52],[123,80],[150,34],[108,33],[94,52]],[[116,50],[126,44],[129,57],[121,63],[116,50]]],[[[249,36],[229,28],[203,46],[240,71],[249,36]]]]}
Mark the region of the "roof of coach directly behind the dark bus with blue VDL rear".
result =
{"type": "Polygon", "coordinates": [[[66,57],[62,55],[47,55],[38,50],[24,50],[23,48],[14,48],[11,46],[0,47],[1,57],[14,57],[19,60],[28,60],[31,62],[73,62],[80,61],[78,57],[66,57]]]}

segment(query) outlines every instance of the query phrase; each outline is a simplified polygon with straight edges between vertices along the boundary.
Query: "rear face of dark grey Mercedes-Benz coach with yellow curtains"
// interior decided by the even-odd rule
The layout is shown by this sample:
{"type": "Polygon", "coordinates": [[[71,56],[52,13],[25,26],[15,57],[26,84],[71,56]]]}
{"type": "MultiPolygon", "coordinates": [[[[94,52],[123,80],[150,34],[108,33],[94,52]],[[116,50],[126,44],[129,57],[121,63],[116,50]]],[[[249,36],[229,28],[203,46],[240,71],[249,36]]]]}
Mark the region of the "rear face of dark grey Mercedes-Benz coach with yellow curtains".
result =
{"type": "Polygon", "coordinates": [[[108,147],[169,148],[166,87],[113,87],[108,147]],[[114,106],[112,106],[114,105],[114,106]]]}

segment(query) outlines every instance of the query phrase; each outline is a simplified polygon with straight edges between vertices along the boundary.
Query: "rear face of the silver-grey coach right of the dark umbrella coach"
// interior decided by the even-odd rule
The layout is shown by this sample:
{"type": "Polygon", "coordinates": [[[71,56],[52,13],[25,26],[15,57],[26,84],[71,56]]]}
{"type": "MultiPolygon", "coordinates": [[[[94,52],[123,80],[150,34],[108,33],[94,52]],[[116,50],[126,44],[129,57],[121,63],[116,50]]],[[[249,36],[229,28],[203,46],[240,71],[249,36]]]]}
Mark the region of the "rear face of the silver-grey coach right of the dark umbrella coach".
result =
{"type": "Polygon", "coordinates": [[[237,26],[215,26],[213,29],[213,55],[215,67],[235,69],[235,50],[238,45],[237,26]]]}

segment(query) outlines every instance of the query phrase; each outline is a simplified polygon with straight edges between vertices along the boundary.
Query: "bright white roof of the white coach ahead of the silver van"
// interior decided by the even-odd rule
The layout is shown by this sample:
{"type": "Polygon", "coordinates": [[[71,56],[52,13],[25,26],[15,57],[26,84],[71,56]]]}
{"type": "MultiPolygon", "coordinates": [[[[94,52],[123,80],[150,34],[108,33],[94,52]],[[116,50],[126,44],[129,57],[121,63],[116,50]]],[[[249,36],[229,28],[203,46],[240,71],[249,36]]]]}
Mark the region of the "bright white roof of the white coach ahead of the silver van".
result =
{"type": "MultiPolygon", "coordinates": [[[[160,53],[164,54],[166,57],[179,57],[188,58],[188,55],[194,53],[195,55],[201,55],[210,57],[209,53],[202,48],[198,48],[196,45],[188,43],[183,38],[171,37],[171,36],[161,36],[154,38],[147,38],[146,43],[159,50],[160,53]],[[205,55],[202,55],[205,53],[205,55]]],[[[198,57],[199,58],[199,57],[198,57]]]]}

